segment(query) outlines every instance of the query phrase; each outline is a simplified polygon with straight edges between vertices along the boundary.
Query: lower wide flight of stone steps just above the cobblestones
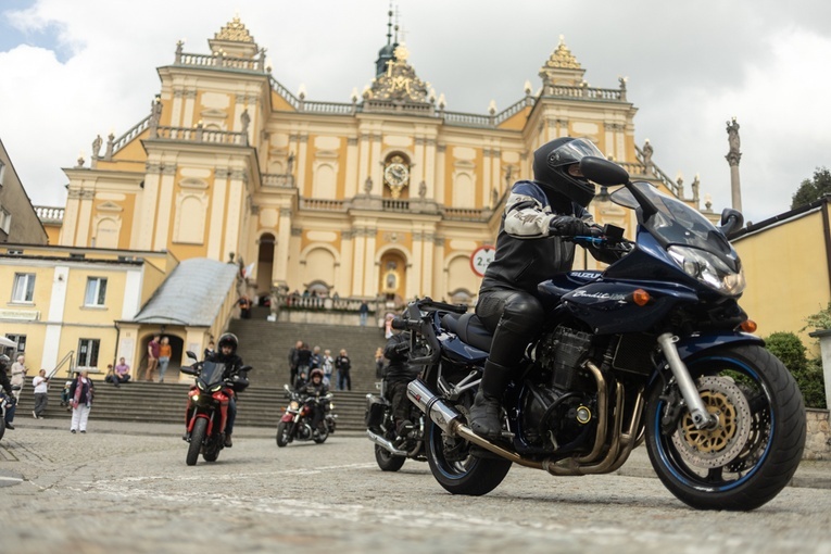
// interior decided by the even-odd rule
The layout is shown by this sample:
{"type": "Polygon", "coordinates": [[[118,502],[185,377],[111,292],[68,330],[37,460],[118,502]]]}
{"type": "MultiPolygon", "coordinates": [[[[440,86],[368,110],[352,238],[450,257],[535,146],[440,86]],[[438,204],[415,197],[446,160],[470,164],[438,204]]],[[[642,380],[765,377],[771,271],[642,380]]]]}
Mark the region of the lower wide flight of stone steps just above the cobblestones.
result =
{"type": "MultiPolygon", "coordinates": [[[[253,377],[253,374],[252,374],[253,377]]],[[[61,404],[61,390],[65,378],[55,378],[49,390],[47,418],[65,418],[70,427],[70,412],[61,404]]],[[[373,387],[374,389],[374,387],[373,387]]],[[[184,427],[185,407],[189,386],[185,383],[127,382],[116,388],[103,381],[96,381],[96,400],[90,412],[90,420],[106,419],[116,421],[181,424],[184,427]]],[[[15,420],[32,417],[35,407],[32,381],[27,379],[21,394],[15,420]]],[[[336,391],[332,412],[338,416],[338,430],[363,431],[366,392],[336,391]]],[[[250,387],[237,401],[237,424],[250,427],[270,427],[276,429],[288,400],[284,391],[275,387],[250,387]]],[[[337,431],[336,431],[337,432],[337,431]]]]}

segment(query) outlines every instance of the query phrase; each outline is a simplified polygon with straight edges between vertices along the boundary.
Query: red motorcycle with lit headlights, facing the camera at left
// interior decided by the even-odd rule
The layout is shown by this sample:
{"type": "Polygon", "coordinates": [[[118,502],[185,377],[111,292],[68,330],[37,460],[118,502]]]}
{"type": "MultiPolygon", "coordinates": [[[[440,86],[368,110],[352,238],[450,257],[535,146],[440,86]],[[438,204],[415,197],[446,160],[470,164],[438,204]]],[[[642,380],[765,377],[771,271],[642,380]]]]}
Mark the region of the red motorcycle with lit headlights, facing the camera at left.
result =
{"type": "MultiPolygon", "coordinates": [[[[196,360],[196,355],[188,352],[196,360]]],[[[244,365],[226,376],[226,365],[216,362],[199,362],[182,367],[181,373],[193,375],[196,385],[188,392],[186,462],[196,465],[199,454],[205,462],[216,462],[219,451],[225,448],[225,424],[228,420],[228,403],[231,394],[248,387],[248,372],[244,365]]]]}

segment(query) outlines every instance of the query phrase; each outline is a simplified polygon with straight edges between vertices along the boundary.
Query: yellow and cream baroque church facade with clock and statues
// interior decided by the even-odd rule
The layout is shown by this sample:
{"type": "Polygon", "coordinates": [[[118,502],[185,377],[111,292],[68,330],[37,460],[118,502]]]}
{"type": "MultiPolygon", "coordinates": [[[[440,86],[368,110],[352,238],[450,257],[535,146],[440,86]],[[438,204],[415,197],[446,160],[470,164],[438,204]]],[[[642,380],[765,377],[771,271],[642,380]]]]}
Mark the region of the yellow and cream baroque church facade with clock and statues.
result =
{"type": "MultiPolygon", "coordinates": [[[[649,142],[635,144],[626,80],[590,87],[563,39],[539,92],[526,84],[486,114],[450,111],[391,25],[372,86],[342,103],[289,92],[237,17],[209,46],[186,53],[179,42],[150,114],[97,138],[89,166],[64,169],[59,245],[234,261],[253,268],[250,294],[465,302],[479,287],[474,253],[493,244],[507,190],[531,178],[549,140],[587,137],[633,178],[698,204],[697,181],[684,198],[649,142]]],[[[603,193],[590,210],[631,235],[632,214],[603,193]]],[[[575,265],[596,267],[590,256],[575,265]]]]}

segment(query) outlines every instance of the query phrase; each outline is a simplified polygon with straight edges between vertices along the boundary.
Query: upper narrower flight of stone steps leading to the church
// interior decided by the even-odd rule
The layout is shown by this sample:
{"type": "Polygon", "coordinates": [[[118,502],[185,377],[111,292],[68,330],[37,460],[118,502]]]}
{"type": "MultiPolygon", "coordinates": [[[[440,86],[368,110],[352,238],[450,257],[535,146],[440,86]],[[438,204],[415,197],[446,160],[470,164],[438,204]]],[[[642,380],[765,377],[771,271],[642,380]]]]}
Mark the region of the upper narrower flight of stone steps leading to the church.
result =
{"type": "Polygon", "coordinates": [[[386,344],[381,329],[357,325],[324,325],[268,322],[267,309],[252,310],[251,319],[235,319],[230,331],[240,341],[240,355],[245,364],[254,367],[251,389],[281,388],[289,381],[289,350],[298,340],[310,349],[331,350],[332,357],[347,349],[352,361],[352,390],[375,390],[375,351],[386,344]]]}

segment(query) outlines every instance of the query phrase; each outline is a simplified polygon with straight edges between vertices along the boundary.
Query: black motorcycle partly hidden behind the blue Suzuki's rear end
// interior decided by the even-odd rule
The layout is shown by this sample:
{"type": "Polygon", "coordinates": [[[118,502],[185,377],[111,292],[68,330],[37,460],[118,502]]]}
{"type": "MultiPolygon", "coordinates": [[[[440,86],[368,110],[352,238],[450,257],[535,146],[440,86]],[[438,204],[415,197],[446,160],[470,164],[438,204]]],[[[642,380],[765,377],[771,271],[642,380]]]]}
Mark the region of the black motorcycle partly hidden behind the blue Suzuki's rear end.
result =
{"type": "Polygon", "coordinates": [[[392,417],[392,403],[387,400],[386,381],[378,383],[380,394],[366,395],[366,436],[375,443],[375,461],[383,471],[398,471],[407,458],[427,462],[424,450],[425,425],[424,414],[412,406],[410,420],[413,428],[403,436],[395,432],[395,421],[392,417]]]}

